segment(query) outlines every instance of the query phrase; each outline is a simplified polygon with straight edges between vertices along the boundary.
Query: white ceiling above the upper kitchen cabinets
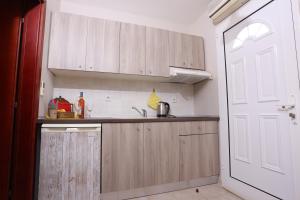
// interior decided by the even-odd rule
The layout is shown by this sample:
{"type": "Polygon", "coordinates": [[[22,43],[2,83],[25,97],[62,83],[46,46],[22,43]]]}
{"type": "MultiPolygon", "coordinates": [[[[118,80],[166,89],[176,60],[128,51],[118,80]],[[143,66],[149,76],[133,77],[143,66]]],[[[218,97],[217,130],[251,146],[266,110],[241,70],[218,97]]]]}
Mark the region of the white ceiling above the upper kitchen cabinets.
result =
{"type": "MultiPolygon", "coordinates": [[[[64,1],[64,0],[62,0],[64,1]]],[[[175,23],[193,23],[212,0],[68,0],[175,23]]]]}

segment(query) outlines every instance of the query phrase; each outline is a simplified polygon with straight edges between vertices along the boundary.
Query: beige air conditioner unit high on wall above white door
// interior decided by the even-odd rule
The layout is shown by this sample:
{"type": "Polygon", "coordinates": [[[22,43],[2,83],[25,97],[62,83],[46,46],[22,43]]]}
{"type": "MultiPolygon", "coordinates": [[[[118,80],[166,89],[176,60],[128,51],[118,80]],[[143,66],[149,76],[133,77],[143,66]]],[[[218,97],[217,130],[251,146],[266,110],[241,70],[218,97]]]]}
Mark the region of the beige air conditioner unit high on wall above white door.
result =
{"type": "Polygon", "coordinates": [[[210,4],[209,17],[218,24],[249,0],[216,0],[210,4]]]}

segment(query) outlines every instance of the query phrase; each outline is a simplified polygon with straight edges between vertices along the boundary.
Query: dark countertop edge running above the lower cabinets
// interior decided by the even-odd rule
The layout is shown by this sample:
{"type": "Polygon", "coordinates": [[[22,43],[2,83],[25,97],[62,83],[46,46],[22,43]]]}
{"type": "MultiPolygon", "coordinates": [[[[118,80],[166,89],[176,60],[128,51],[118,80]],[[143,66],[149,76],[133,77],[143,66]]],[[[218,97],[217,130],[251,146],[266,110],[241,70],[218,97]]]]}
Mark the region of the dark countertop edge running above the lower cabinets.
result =
{"type": "Polygon", "coordinates": [[[150,122],[187,122],[219,121],[218,116],[169,117],[169,118],[91,118],[91,119],[43,119],[37,124],[97,124],[97,123],[150,123],[150,122]]]}

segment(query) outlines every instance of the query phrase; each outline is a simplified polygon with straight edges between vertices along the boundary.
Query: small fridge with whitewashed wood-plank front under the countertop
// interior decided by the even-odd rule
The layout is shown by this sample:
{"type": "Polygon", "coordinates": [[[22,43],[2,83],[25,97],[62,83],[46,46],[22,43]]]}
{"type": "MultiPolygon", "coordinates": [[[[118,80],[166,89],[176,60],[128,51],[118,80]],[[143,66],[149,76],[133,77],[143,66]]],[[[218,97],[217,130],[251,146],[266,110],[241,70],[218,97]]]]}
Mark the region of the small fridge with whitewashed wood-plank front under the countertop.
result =
{"type": "Polygon", "coordinates": [[[35,199],[100,199],[101,124],[43,124],[35,199]]]}

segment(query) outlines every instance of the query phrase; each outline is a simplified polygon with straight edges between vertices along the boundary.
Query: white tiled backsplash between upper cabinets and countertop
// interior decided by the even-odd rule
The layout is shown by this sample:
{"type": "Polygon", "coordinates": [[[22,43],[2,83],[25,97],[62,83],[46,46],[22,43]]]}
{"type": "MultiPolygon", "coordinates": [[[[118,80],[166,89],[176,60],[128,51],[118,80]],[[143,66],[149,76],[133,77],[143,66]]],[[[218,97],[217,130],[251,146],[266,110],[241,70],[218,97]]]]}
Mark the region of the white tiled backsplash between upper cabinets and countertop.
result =
{"type": "Polygon", "coordinates": [[[65,77],[55,79],[54,97],[63,96],[70,102],[76,102],[79,93],[84,92],[87,105],[92,107],[92,117],[139,116],[132,106],[144,108],[148,116],[155,116],[156,111],[147,106],[153,88],[163,101],[170,103],[171,114],[194,114],[191,85],[65,77]]]}

